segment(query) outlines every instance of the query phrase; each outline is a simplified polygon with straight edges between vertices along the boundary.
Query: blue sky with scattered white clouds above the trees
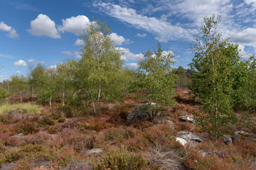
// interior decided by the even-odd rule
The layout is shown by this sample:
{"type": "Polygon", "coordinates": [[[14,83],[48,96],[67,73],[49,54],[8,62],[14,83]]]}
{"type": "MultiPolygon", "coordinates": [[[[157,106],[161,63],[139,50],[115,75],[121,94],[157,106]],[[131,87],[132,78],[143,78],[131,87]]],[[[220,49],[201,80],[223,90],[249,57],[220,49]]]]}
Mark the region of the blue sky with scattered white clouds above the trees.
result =
{"type": "Polygon", "coordinates": [[[212,13],[222,17],[219,31],[239,44],[242,57],[255,53],[256,0],[0,0],[0,81],[38,63],[79,60],[78,39],[93,17],[107,20],[127,67],[157,42],[174,53],[176,67],[188,67],[193,35],[212,13]]]}

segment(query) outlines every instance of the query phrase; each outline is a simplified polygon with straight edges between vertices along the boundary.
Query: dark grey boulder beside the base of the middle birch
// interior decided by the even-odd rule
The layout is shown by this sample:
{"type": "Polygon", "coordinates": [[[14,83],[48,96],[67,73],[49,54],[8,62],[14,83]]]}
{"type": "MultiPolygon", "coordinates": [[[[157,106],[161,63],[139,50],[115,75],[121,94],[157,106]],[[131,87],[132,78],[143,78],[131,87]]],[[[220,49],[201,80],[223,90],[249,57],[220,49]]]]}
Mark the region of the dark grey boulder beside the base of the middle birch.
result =
{"type": "Polygon", "coordinates": [[[127,115],[127,120],[151,120],[150,115],[149,109],[142,106],[137,106],[127,115]]]}

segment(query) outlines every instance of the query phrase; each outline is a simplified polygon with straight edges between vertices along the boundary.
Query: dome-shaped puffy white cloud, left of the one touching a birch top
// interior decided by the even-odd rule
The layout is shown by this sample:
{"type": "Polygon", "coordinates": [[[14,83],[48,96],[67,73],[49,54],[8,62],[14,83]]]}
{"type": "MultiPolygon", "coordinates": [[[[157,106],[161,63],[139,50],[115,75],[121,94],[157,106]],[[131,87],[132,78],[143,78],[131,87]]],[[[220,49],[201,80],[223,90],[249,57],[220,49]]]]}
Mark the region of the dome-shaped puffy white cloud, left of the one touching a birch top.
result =
{"type": "Polygon", "coordinates": [[[55,22],[44,14],[39,14],[36,19],[31,21],[31,28],[28,30],[28,33],[36,36],[60,38],[58,30],[55,28],[55,22]]]}

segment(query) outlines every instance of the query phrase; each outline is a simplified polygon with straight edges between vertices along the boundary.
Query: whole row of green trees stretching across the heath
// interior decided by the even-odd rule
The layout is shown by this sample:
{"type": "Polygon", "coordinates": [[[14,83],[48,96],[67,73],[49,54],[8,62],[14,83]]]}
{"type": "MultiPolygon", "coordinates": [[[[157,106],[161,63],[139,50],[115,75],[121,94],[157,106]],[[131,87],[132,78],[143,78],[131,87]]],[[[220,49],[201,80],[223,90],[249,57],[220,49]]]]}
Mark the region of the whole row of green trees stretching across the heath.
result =
{"type": "Polygon", "coordinates": [[[153,120],[159,106],[175,105],[174,87],[189,86],[206,114],[198,116],[198,122],[217,139],[220,128],[234,120],[234,108],[256,108],[255,57],[242,60],[238,45],[217,33],[218,22],[215,15],[204,19],[191,49],[191,69],[174,69],[174,56],[159,43],[146,52],[137,69],[124,68],[123,52],[114,47],[110,28],[92,22],[80,38],[81,60],[67,60],[56,68],[38,64],[26,77],[14,75],[1,84],[1,98],[10,92],[19,94],[21,101],[30,96],[50,107],[56,100],[68,108],[90,104],[97,114],[100,102],[122,102],[127,94],[136,94],[151,108],[153,120]]]}

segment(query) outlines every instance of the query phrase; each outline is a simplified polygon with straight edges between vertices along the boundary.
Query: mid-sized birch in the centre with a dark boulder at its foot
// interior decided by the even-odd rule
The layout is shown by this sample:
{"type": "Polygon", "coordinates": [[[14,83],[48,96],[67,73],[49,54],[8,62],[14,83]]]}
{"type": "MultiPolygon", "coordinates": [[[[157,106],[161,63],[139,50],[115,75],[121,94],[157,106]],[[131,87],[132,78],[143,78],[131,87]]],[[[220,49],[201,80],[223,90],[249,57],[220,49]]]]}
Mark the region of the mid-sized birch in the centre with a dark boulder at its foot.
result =
{"type": "Polygon", "coordinates": [[[144,58],[138,63],[135,83],[137,90],[141,92],[139,97],[151,108],[151,115],[149,115],[151,120],[159,111],[159,106],[176,103],[173,96],[175,94],[175,81],[178,77],[171,73],[173,65],[174,56],[171,52],[163,55],[159,43],[154,52],[150,50],[146,52],[144,58]]]}

